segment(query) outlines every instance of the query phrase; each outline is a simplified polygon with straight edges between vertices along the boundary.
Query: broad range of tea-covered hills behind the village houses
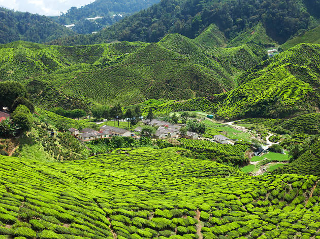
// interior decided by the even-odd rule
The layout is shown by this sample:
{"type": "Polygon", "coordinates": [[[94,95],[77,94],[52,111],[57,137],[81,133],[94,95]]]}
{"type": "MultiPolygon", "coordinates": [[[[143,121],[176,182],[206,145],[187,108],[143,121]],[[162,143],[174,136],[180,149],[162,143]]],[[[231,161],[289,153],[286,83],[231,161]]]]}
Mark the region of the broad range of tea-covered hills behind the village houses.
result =
{"type": "Polygon", "coordinates": [[[154,44],[61,47],[15,42],[0,46],[0,77],[25,84],[38,106],[88,109],[229,91],[236,86],[234,74],[259,63],[265,53],[257,45],[204,49],[179,34],[154,44]]]}

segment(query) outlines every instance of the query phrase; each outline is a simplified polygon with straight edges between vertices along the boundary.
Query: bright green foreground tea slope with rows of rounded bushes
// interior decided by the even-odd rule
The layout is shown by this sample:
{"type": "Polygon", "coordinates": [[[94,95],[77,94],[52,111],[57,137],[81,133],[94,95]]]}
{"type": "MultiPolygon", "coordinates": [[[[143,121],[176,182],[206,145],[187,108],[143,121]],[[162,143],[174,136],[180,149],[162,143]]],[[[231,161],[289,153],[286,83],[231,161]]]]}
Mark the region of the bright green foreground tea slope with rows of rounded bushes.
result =
{"type": "Polygon", "coordinates": [[[0,156],[0,233],[28,239],[319,236],[317,177],[249,177],[176,151],[119,149],[63,164],[0,156]]]}

